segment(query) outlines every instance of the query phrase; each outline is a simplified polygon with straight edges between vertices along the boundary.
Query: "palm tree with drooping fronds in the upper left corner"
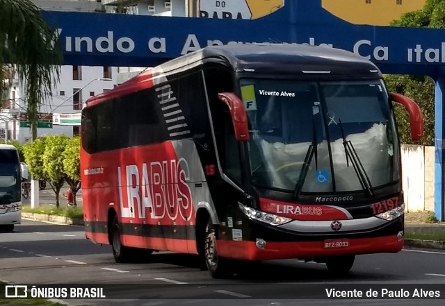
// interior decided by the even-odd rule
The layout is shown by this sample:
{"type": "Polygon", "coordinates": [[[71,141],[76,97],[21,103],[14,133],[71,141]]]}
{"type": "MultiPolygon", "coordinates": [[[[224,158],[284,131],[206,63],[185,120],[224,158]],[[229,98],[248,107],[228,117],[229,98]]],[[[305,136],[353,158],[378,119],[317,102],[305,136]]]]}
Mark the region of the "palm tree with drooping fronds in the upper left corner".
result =
{"type": "Polygon", "coordinates": [[[14,71],[24,83],[32,139],[38,110],[57,83],[62,63],[58,33],[44,21],[31,0],[0,0],[0,97],[14,71]]]}

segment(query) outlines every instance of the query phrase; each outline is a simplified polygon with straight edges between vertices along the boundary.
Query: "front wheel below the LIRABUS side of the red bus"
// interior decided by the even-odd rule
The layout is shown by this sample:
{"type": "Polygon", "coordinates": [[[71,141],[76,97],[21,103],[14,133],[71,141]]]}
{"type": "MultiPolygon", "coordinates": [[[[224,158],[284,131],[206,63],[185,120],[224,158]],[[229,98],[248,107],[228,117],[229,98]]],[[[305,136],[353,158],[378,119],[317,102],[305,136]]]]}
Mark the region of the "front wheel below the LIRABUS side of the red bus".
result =
{"type": "Polygon", "coordinates": [[[233,275],[230,260],[218,256],[215,229],[210,219],[204,236],[204,257],[207,269],[209,269],[210,275],[213,278],[229,278],[233,275]]]}

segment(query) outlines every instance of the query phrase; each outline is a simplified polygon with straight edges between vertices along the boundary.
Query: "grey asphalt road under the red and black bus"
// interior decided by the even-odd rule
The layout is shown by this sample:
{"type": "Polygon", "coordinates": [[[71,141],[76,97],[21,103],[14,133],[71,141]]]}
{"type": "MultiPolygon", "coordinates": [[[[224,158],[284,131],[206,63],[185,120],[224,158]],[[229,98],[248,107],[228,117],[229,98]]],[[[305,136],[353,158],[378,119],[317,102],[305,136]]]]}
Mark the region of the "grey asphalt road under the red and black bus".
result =
{"type": "Polygon", "coordinates": [[[24,221],[0,233],[0,280],[15,284],[88,284],[108,287],[104,300],[72,305],[444,305],[445,253],[403,250],[358,256],[349,275],[332,275],[324,264],[275,260],[254,264],[229,280],[211,278],[196,256],[156,253],[143,263],[116,264],[111,246],[85,239],[79,226],[24,221]],[[311,287],[303,285],[310,284],[311,287]],[[442,290],[442,300],[333,300],[325,289],[403,287],[442,290]],[[410,284],[415,284],[410,287],[410,284]],[[129,287],[131,286],[131,287],[129,287]],[[322,292],[325,299],[320,298],[322,292]],[[296,300],[296,298],[307,298],[296,300]]]}

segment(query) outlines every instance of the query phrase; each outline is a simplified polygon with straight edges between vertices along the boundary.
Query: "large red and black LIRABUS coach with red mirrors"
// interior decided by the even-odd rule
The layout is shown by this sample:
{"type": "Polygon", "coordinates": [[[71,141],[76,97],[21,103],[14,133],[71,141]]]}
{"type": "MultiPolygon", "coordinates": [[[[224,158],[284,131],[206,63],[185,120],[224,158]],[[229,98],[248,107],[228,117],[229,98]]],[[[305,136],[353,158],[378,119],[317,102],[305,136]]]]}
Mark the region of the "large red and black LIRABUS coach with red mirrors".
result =
{"type": "Polygon", "coordinates": [[[147,69],[82,111],[86,237],[236,262],[298,258],[349,271],[403,248],[401,151],[389,94],[348,51],[211,46],[147,69]]]}

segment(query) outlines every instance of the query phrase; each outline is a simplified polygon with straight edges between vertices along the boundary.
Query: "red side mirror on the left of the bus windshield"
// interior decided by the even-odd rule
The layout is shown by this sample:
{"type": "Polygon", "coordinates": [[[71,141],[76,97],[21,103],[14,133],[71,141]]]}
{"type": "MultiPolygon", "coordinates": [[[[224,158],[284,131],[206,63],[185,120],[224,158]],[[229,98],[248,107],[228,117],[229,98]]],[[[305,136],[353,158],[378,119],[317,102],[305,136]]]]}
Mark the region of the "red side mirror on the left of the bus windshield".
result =
{"type": "Polygon", "coordinates": [[[218,94],[218,99],[229,107],[236,140],[249,141],[248,114],[245,112],[243,101],[233,92],[222,92],[218,94]]]}

